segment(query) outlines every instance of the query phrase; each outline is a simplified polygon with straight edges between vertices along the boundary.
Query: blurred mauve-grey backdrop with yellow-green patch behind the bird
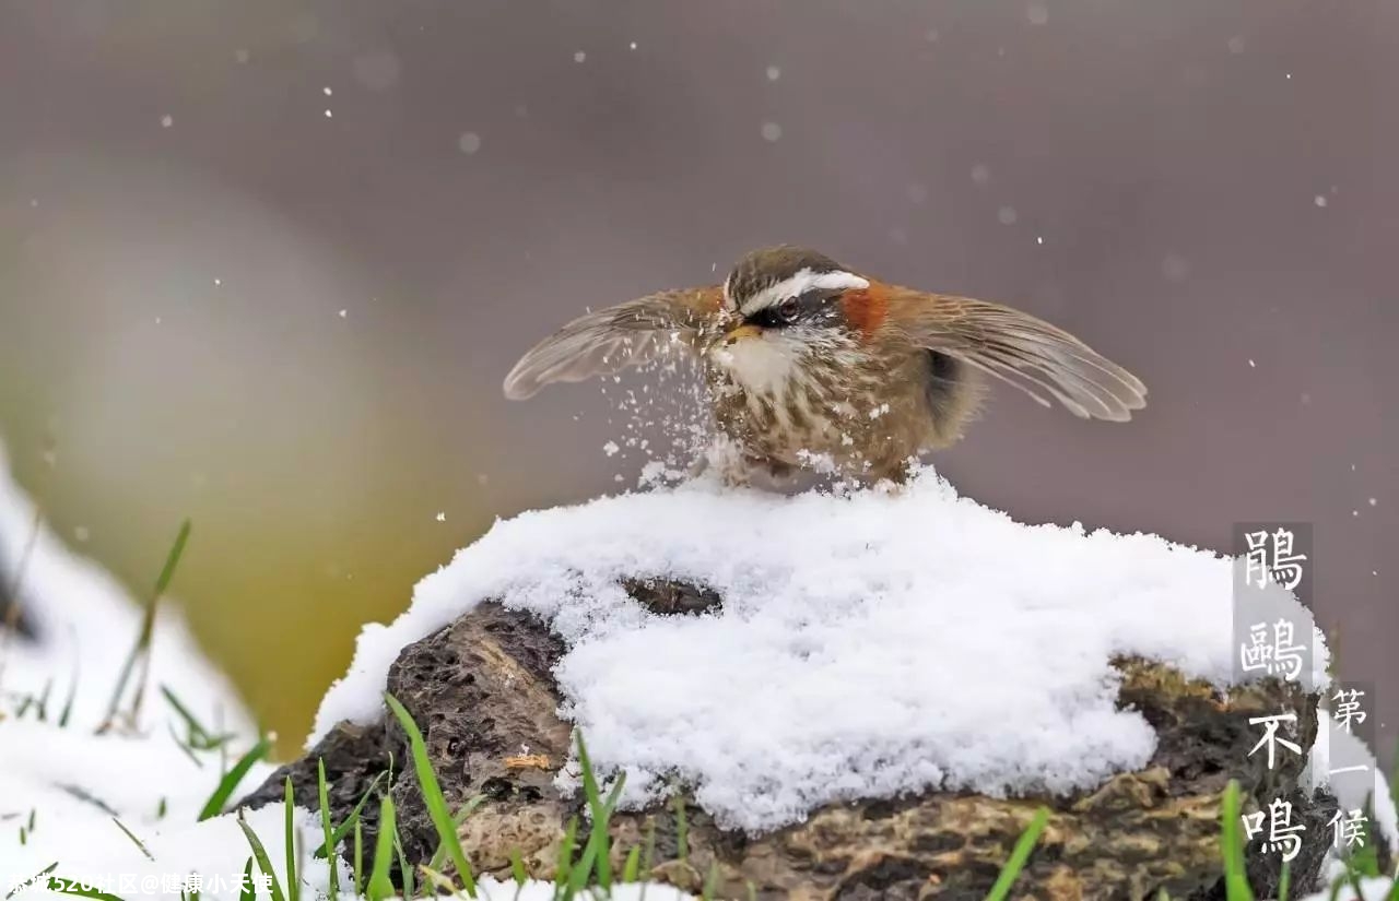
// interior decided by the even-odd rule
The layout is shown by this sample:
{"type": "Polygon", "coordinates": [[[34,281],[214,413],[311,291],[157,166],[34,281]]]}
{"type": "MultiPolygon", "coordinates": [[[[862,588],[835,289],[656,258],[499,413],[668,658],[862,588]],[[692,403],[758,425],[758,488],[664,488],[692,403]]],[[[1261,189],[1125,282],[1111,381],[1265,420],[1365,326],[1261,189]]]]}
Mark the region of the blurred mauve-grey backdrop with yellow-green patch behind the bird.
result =
{"type": "Polygon", "coordinates": [[[1396,85],[1379,0],[7,0],[0,440],[140,592],[193,520],[175,592],[291,749],[492,517],[635,483],[599,386],[501,398],[523,349],[804,243],[1140,374],[1126,426],[999,391],[937,465],[1025,521],[1312,522],[1392,736],[1396,85]]]}

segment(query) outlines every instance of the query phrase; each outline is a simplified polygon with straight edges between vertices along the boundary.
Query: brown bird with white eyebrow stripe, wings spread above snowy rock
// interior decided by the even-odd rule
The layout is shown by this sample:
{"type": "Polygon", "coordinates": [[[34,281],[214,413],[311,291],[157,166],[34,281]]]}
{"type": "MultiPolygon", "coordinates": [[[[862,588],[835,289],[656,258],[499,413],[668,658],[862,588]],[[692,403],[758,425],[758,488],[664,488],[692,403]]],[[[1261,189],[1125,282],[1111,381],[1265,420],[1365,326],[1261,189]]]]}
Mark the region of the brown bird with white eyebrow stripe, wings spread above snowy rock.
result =
{"type": "Polygon", "coordinates": [[[824,464],[901,482],[919,454],[961,437],[988,374],[1084,419],[1122,422],[1146,405],[1136,376],[1028,313],[891,285],[792,246],[747,254],[722,285],[568,323],[515,365],[505,395],[666,353],[700,362],[719,432],[747,468],[776,476],[824,464]]]}

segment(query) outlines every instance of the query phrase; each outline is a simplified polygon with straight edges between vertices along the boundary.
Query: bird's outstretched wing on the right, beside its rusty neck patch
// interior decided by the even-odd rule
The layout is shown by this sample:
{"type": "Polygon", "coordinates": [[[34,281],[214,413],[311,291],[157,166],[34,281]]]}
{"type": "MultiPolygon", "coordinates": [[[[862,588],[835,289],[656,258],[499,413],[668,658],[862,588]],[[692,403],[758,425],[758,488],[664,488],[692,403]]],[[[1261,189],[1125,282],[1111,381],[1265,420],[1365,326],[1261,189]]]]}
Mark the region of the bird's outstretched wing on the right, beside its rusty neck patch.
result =
{"type": "Polygon", "coordinates": [[[999,303],[907,292],[908,338],[942,351],[1049,406],[1045,394],[1084,419],[1125,422],[1146,406],[1146,386],[1062,328],[999,303]]]}

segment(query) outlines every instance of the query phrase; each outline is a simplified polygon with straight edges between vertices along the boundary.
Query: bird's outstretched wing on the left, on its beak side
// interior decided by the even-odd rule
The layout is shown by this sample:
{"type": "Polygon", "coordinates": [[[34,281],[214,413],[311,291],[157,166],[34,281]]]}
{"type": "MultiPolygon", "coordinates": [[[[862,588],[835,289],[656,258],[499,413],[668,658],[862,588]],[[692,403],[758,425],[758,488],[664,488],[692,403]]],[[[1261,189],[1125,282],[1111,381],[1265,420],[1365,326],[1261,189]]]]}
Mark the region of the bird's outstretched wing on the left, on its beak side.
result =
{"type": "Polygon", "coordinates": [[[718,285],[662,291],[579,316],[515,363],[505,397],[533,397],[550,381],[583,381],[641,366],[669,348],[695,349],[705,320],[719,312],[718,285]]]}

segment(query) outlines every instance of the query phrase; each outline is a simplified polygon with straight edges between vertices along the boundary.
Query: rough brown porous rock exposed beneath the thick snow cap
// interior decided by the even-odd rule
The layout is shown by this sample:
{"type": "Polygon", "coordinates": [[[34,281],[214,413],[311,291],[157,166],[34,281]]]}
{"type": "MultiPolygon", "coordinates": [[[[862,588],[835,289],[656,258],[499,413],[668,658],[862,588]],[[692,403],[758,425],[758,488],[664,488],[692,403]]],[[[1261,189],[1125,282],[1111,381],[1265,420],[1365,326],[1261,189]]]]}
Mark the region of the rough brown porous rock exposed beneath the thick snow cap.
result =
{"type": "MultiPolygon", "coordinates": [[[[684,584],[628,581],[625,588],[660,615],[694,616],[722,603],[713,592],[684,584]]],[[[530,874],[553,877],[565,824],[581,814],[581,798],[564,798],[554,775],[568,759],[571,726],[555,711],[560,696],[551,666],[564,652],[547,626],[499,603],[481,603],[450,626],[406,647],[389,672],[388,690],[413,714],[449,805],[484,795],[464,821],[463,845],[477,872],[509,876],[518,851],[530,874]],[[527,750],[525,750],[527,749],[527,750]]],[[[1049,807],[1048,827],[1016,883],[1017,897],[1037,898],[1223,898],[1221,793],[1240,781],[1245,809],[1287,796],[1307,824],[1293,884],[1316,880],[1326,851],[1335,799],[1305,795],[1305,760],[1249,757],[1259,726],[1249,717],[1298,711],[1290,740],[1309,747],[1316,736],[1316,697],[1295,683],[1266,680],[1221,696],[1143,659],[1115,661],[1119,703],[1142,712],[1157,732],[1157,750],[1136,772],[1119,774],[1095,791],[1063,798],[989,798],[929,792],[897,800],[830,805],[804,823],[764,835],[719,830],[686,805],[688,854],[679,855],[677,819],[669,806],[613,819],[614,863],[653,842],[653,877],[698,890],[713,867],[723,898],[982,898],[1035,810],[1049,807]],[[750,894],[751,890],[751,894],[750,894]]],[[[316,760],[323,759],[337,821],[385,772],[407,767],[407,738],[386,717],[374,726],[337,725],[312,752],[242,799],[242,806],[281,800],[291,775],[298,803],[316,807],[316,760]]],[[[436,848],[417,782],[393,779],[403,851],[425,863],[436,848]]],[[[372,847],[376,805],[364,806],[372,847]]],[[[581,817],[582,819],[582,817],[581,817]]],[[[1247,851],[1259,897],[1273,897],[1277,854],[1247,851]]]]}

